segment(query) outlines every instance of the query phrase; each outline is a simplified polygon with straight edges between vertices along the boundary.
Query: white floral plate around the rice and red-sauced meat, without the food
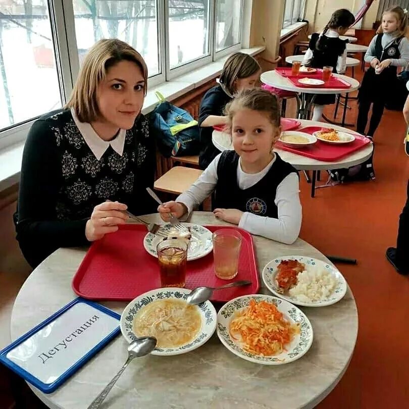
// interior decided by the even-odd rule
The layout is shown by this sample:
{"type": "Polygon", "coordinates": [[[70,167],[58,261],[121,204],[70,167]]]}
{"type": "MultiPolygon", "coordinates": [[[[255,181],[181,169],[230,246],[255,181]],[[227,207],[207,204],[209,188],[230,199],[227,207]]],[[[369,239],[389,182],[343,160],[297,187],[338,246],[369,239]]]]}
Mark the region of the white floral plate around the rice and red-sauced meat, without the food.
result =
{"type": "Polygon", "coordinates": [[[340,299],[343,298],[343,296],[346,293],[346,287],[347,287],[345,278],[339,272],[339,270],[337,270],[335,267],[321,260],[313,259],[311,257],[303,257],[301,255],[285,255],[283,257],[277,257],[276,259],[266,264],[266,266],[263,269],[262,277],[263,277],[264,284],[266,284],[266,287],[274,295],[277,295],[278,297],[283,298],[293,304],[302,305],[302,306],[326,306],[326,305],[335,304],[335,302],[338,302],[340,299]],[[333,293],[328,298],[325,298],[320,301],[304,302],[304,301],[298,300],[295,297],[292,297],[290,294],[288,294],[288,292],[281,294],[279,292],[279,287],[276,281],[276,275],[278,272],[277,267],[283,260],[298,260],[300,263],[305,264],[306,268],[311,266],[311,267],[317,267],[322,270],[326,270],[338,280],[338,285],[333,291],[333,293]]]}

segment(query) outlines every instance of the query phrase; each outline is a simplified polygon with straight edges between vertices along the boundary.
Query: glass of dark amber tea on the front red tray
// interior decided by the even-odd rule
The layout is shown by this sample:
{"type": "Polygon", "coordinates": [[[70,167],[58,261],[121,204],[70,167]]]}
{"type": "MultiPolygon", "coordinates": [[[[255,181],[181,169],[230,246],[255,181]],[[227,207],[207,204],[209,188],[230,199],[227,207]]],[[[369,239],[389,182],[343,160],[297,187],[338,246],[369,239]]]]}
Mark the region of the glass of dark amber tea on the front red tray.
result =
{"type": "Polygon", "coordinates": [[[158,243],[159,269],[162,287],[184,287],[188,244],[185,240],[170,238],[158,243]]]}

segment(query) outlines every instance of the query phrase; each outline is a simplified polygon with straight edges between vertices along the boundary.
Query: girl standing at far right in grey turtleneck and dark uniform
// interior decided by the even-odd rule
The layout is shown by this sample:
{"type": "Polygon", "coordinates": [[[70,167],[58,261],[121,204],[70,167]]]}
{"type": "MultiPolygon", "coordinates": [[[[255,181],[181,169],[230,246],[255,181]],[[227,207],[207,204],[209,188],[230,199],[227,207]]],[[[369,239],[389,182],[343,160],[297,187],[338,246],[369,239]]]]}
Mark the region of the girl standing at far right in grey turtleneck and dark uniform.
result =
{"type": "Polygon", "coordinates": [[[390,90],[395,89],[397,67],[409,63],[409,42],[406,39],[406,14],[400,7],[386,10],[377,35],[371,40],[365,61],[371,67],[365,73],[358,94],[359,111],[356,130],[373,137],[381,122],[383,110],[390,90]],[[366,133],[368,113],[372,105],[369,130],[366,133]]]}

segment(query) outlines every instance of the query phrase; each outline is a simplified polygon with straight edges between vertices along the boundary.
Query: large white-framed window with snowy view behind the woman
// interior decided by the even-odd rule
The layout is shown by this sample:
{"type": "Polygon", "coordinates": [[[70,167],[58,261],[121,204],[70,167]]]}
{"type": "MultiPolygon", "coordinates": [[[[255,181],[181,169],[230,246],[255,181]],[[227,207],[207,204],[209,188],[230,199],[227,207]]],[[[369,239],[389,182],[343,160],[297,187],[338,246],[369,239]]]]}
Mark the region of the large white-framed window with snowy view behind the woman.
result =
{"type": "Polygon", "coordinates": [[[143,56],[148,87],[241,47],[244,0],[0,0],[0,149],[61,108],[101,38],[143,56]],[[16,53],[18,50],[18,53],[16,53]]]}

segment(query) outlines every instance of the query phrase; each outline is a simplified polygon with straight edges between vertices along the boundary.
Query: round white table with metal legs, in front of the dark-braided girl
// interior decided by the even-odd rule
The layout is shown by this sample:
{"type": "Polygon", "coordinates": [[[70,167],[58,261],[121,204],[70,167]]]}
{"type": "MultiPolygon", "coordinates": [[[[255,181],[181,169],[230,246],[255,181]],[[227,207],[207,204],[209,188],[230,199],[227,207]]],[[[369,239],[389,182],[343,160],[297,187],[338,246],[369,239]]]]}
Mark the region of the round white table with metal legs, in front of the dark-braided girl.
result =
{"type": "MultiPolygon", "coordinates": [[[[273,71],[266,71],[260,76],[260,80],[267,85],[275,88],[283,89],[285,91],[298,92],[300,97],[297,98],[298,118],[309,119],[311,115],[311,108],[314,103],[316,94],[340,94],[345,93],[345,104],[348,103],[347,95],[349,92],[356,91],[360,87],[359,81],[346,75],[332,74],[334,77],[340,78],[345,82],[351,84],[349,88],[314,88],[314,87],[298,87],[294,85],[288,78],[283,77],[278,73],[280,68],[273,71]]],[[[342,125],[345,123],[345,111],[342,118],[342,125]]]]}

